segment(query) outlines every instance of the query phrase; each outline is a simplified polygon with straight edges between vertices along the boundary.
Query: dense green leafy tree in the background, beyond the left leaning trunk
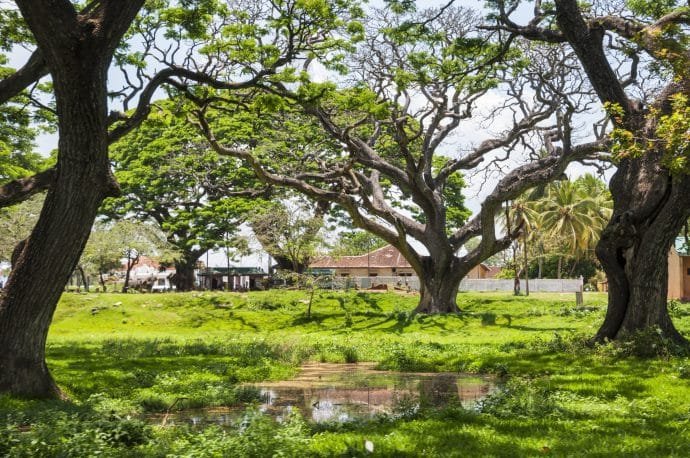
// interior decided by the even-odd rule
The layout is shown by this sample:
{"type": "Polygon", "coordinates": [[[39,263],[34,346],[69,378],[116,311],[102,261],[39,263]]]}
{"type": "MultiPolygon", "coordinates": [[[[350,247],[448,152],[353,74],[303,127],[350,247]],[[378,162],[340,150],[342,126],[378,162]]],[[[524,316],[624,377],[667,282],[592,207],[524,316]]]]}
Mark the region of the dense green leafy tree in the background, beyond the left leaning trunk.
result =
{"type": "MultiPolygon", "coordinates": [[[[108,199],[115,218],[153,220],[178,252],[175,286],[194,288],[194,269],[206,251],[223,246],[250,213],[262,208],[251,171],[219,157],[170,103],[111,148],[122,195],[108,199]]],[[[257,186],[258,187],[258,186],[257,186]]]]}

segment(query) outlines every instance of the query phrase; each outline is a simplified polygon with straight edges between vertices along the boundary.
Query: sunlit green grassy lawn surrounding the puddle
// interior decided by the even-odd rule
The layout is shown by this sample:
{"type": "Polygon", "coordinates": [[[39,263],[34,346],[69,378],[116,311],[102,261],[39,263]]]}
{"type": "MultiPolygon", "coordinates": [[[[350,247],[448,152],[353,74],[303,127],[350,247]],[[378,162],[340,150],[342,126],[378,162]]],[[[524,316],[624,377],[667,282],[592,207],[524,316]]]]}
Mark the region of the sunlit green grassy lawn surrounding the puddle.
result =
{"type": "MultiPolygon", "coordinates": [[[[653,335],[589,348],[606,298],[462,293],[457,316],[411,316],[395,293],[65,294],[48,363],[71,402],[0,397],[0,456],[690,456],[690,360],[653,335]],[[653,353],[653,358],[636,355],[653,353]],[[243,382],[306,361],[494,374],[479,409],[348,424],[160,427],[152,412],[249,405],[243,382]]],[[[673,308],[690,333],[690,305],[673,308]]]]}

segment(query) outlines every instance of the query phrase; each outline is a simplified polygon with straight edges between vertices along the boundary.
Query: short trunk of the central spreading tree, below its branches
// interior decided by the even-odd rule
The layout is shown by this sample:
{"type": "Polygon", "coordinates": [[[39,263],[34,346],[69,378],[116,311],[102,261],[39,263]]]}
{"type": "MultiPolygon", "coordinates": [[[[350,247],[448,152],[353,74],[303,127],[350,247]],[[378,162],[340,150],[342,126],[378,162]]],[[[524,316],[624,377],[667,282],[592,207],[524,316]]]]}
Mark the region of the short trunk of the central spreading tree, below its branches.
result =
{"type": "Polygon", "coordinates": [[[418,272],[420,298],[415,313],[458,313],[458,288],[463,275],[455,265],[456,259],[445,265],[435,263],[431,257],[423,258],[422,272],[418,272]]]}

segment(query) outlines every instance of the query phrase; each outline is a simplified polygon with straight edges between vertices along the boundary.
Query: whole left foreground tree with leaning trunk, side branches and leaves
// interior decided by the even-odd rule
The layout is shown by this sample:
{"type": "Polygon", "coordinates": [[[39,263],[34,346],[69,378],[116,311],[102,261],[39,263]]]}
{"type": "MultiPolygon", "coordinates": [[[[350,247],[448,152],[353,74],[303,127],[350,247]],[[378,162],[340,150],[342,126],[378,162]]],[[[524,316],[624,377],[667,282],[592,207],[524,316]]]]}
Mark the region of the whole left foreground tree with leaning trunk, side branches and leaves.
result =
{"type": "MultiPolygon", "coordinates": [[[[0,392],[54,397],[62,394],[45,363],[48,327],[98,208],[119,191],[110,171],[109,143],[148,115],[161,85],[183,87],[192,78],[215,88],[242,89],[281,73],[300,53],[318,55],[333,44],[331,30],[345,25],[338,15],[350,2],[151,2],[136,23],[144,0],[95,0],[81,9],[68,0],[15,3],[21,18],[15,10],[13,17],[28,27],[17,40],[35,42],[35,48],[23,67],[0,81],[0,104],[49,75],[59,140],[55,167],[0,188],[0,206],[48,189],[0,298],[0,392]],[[256,46],[266,29],[276,40],[256,46]],[[239,32],[255,41],[237,41],[239,32]],[[126,36],[140,41],[128,46],[126,36]],[[108,70],[116,51],[125,87],[110,91],[108,70]],[[109,95],[122,101],[125,111],[133,100],[137,107],[130,116],[117,110],[109,114],[109,95]]],[[[7,35],[1,40],[3,48],[11,47],[7,35]]]]}

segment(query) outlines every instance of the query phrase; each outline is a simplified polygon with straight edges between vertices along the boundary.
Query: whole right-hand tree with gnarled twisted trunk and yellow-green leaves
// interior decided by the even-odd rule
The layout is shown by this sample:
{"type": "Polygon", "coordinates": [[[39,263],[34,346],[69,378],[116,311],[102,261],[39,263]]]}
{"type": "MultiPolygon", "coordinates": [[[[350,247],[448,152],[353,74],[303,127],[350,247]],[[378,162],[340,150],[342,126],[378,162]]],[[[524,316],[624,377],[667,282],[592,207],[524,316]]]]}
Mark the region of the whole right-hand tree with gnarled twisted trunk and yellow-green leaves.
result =
{"type": "Polygon", "coordinates": [[[690,214],[690,10],[677,1],[492,3],[496,28],[570,47],[609,115],[617,170],[610,181],[613,215],[597,245],[609,305],[596,339],[658,328],[684,342],[666,296],[668,252],[690,214]],[[534,17],[520,25],[513,15],[523,3],[533,3],[534,17]]]}

